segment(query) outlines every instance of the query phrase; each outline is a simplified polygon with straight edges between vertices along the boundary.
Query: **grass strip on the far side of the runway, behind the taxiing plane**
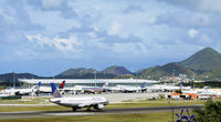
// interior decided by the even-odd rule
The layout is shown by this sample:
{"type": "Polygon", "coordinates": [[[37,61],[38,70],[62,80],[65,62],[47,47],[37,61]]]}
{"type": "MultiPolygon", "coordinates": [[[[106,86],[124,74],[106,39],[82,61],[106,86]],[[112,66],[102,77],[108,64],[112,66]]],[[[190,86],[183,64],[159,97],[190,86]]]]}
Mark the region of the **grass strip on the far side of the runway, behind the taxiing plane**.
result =
{"type": "MultiPolygon", "coordinates": [[[[21,100],[0,100],[0,104],[12,104],[12,105],[0,105],[0,112],[71,110],[70,108],[50,103],[48,100],[49,98],[23,98],[21,100]],[[20,105],[13,105],[13,104],[20,104],[20,105]]],[[[175,105],[192,105],[192,104],[204,103],[203,100],[177,101],[177,100],[147,100],[147,99],[127,100],[124,102],[128,103],[110,103],[107,106],[105,106],[105,109],[168,106],[170,105],[168,102],[175,105]]]]}

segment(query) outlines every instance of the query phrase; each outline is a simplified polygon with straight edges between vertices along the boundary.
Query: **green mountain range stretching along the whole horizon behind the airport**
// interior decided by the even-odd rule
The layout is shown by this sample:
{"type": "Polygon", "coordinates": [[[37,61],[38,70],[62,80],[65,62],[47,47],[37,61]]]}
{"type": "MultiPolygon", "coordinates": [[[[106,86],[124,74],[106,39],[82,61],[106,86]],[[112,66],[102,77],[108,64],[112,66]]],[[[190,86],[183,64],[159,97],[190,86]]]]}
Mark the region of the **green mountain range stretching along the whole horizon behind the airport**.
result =
{"type": "MultiPolygon", "coordinates": [[[[180,73],[191,75],[199,75],[204,78],[206,75],[211,75],[211,78],[221,78],[221,53],[212,48],[204,48],[193,53],[186,60],[180,62],[170,62],[164,65],[150,67],[147,69],[138,70],[137,72],[131,72],[125,67],[110,65],[102,71],[96,69],[87,68],[71,68],[62,73],[55,75],[55,79],[114,79],[114,78],[125,78],[139,77],[144,79],[155,79],[158,80],[164,75],[179,75],[180,73]],[[122,77],[120,77],[122,75],[122,77]]],[[[31,73],[15,73],[17,79],[50,79],[52,77],[39,77],[31,73]]],[[[12,73],[0,74],[0,80],[2,82],[11,83],[13,80],[12,73]]],[[[15,80],[18,81],[18,80],[15,80]]]]}

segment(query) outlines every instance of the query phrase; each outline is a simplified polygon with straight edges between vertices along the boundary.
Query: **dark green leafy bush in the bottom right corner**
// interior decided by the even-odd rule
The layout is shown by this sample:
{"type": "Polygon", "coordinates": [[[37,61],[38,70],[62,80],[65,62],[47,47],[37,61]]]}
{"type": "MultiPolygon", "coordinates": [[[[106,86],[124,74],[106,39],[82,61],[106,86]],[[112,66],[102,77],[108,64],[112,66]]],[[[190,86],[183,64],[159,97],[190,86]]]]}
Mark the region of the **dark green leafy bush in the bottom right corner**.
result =
{"type": "Polygon", "coordinates": [[[221,101],[206,102],[204,109],[194,110],[198,122],[221,122],[221,101]]]}

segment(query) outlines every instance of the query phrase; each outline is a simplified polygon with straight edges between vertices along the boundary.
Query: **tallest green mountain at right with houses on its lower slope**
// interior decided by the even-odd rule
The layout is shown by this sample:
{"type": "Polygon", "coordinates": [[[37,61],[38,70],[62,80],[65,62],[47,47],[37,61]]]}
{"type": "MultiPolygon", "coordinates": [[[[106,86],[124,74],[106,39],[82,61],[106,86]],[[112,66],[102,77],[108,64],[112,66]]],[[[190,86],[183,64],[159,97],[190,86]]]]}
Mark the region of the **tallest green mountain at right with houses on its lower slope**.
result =
{"type": "Polygon", "coordinates": [[[221,78],[221,54],[211,48],[206,48],[187,60],[148,68],[139,71],[139,78],[155,80],[159,80],[162,77],[171,77],[172,74],[187,74],[189,78],[194,75],[196,79],[206,81],[217,80],[217,78],[221,78]]]}

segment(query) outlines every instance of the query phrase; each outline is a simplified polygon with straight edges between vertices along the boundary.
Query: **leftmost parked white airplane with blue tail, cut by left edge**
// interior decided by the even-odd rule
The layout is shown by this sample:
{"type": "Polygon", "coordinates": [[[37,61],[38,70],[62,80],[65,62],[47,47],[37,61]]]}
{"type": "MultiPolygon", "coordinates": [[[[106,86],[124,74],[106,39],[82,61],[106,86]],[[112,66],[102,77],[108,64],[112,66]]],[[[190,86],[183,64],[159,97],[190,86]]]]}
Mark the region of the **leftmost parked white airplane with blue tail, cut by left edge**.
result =
{"type": "Polygon", "coordinates": [[[41,87],[41,82],[30,89],[4,89],[1,91],[1,94],[15,94],[15,95],[29,95],[35,93],[41,87]]]}

